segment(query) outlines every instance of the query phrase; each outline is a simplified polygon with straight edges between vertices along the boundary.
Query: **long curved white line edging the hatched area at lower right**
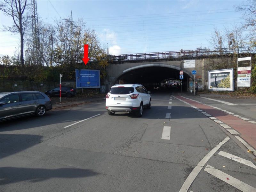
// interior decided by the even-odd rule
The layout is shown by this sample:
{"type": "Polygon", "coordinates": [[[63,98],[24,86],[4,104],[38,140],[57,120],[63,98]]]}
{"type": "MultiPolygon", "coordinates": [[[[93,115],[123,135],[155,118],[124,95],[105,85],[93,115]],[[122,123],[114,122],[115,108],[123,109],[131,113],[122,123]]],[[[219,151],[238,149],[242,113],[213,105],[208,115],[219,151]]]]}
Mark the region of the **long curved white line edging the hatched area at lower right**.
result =
{"type": "Polygon", "coordinates": [[[203,166],[207,163],[207,161],[216,153],[221,146],[223,146],[230,138],[226,137],[222,140],[218,145],[216,145],[204,158],[196,165],[196,167],[192,170],[192,172],[188,175],[187,179],[183,183],[180,188],[180,192],[187,192],[190,185],[196,179],[198,173],[202,170],[203,166]]]}

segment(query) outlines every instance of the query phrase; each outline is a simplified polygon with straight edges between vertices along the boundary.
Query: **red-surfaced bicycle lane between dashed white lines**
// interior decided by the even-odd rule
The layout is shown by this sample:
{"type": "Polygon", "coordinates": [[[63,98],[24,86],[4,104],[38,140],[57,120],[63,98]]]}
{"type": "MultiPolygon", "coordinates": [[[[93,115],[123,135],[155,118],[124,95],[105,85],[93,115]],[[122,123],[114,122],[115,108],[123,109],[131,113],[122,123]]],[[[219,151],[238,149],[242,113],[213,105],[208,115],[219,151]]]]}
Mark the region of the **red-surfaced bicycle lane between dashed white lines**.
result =
{"type": "Polygon", "coordinates": [[[234,130],[239,132],[240,137],[243,138],[249,145],[251,145],[254,149],[256,148],[256,124],[252,124],[239,117],[221,111],[220,109],[216,109],[181,96],[176,97],[205,111],[206,113],[223,122],[223,124],[227,124],[234,130]]]}

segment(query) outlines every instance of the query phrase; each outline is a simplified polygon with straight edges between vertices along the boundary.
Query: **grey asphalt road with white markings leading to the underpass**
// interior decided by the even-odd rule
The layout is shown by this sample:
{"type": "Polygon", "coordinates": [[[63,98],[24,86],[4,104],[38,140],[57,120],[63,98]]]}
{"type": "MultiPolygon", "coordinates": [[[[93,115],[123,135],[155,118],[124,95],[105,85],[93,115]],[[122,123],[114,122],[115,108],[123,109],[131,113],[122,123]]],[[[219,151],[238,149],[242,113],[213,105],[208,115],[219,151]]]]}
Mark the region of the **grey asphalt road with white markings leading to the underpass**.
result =
{"type": "Polygon", "coordinates": [[[0,191],[255,191],[255,156],[185,103],[255,121],[255,100],[183,96],[152,94],[140,118],[102,100],[2,122],[0,191]]]}

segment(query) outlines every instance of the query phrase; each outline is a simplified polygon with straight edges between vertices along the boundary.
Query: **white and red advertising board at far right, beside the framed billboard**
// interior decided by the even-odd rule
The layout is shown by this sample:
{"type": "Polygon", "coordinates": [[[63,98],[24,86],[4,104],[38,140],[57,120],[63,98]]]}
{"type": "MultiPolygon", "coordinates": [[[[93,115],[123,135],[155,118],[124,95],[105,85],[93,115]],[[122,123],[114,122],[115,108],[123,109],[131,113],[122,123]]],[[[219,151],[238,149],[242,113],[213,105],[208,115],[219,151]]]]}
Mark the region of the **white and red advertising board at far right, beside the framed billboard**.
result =
{"type": "Polygon", "coordinates": [[[251,67],[237,68],[237,87],[251,86],[251,67]]]}

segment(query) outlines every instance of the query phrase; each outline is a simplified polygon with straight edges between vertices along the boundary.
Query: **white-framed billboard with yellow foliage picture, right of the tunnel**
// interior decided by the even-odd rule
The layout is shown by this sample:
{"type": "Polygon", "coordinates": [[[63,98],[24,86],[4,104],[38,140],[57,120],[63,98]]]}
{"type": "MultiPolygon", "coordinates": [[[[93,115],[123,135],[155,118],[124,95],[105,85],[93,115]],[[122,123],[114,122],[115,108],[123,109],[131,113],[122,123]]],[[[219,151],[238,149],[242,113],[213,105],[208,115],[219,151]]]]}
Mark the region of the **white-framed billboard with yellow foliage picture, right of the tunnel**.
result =
{"type": "Polygon", "coordinates": [[[233,69],[208,71],[209,90],[234,91],[233,69]]]}

